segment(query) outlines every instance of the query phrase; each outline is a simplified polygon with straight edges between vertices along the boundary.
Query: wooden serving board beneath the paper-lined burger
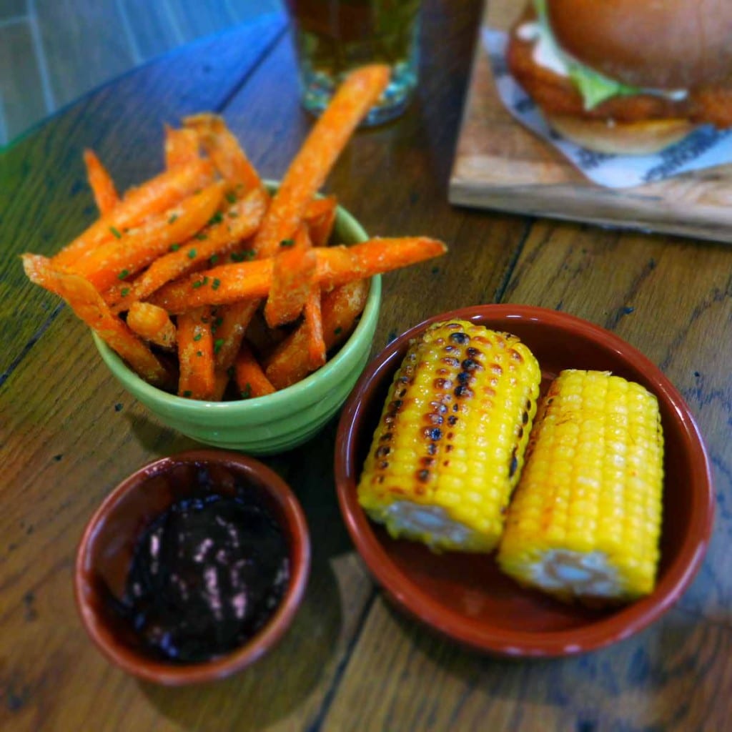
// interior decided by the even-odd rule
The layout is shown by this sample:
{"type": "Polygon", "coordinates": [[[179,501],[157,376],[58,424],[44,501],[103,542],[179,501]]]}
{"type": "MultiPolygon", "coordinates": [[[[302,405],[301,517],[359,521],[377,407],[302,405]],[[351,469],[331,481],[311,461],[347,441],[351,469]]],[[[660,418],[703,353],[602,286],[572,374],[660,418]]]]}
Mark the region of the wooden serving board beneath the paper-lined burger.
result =
{"type": "MultiPolygon", "coordinates": [[[[488,0],[484,27],[507,30],[520,0],[488,0]]],[[[504,107],[478,37],[449,182],[451,203],[732,242],[732,165],[641,187],[589,182],[504,107]]]]}

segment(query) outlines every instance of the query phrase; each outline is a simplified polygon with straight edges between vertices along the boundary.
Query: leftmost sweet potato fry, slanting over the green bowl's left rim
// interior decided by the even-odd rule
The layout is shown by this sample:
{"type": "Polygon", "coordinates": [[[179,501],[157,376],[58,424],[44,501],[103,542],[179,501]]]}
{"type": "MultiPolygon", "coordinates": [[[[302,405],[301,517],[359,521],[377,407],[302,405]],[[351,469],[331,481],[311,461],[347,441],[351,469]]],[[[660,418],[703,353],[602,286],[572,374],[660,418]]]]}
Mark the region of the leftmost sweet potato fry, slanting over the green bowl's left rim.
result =
{"type": "Polygon", "coordinates": [[[23,269],[32,282],[66,300],[74,313],[145,381],[155,386],[168,385],[169,374],[163,364],[124,321],[109,310],[94,285],[78,275],[57,271],[51,260],[41,255],[24,254],[23,269]]]}

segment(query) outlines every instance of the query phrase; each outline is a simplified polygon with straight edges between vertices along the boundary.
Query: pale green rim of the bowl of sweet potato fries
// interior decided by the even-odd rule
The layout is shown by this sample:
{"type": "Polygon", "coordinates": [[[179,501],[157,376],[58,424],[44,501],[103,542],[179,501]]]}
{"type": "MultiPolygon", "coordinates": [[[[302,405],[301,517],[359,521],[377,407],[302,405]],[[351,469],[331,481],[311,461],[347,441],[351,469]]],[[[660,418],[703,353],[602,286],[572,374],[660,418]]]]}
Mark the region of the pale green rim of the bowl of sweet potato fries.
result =
{"type": "MultiPolygon", "coordinates": [[[[265,181],[265,184],[270,189],[277,186],[276,182],[269,180],[265,181]]],[[[318,194],[320,196],[321,194],[318,194]]],[[[336,207],[337,220],[345,223],[349,227],[354,229],[355,239],[354,244],[358,242],[365,242],[368,239],[368,234],[362,225],[356,220],[356,218],[344,209],[343,206],[336,207]]],[[[125,386],[130,385],[130,389],[135,393],[149,397],[150,399],[157,400],[158,403],[166,406],[174,406],[175,408],[182,409],[184,412],[196,413],[200,412],[201,408],[208,410],[227,410],[234,414],[237,411],[248,411],[255,413],[260,409],[269,409],[280,406],[280,403],[286,400],[296,399],[299,396],[307,395],[308,392],[312,391],[318,386],[318,381],[321,379],[328,378],[329,374],[335,370],[340,362],[345,361],[351,356],[351,352],[355,351],[358,345],[359,336],[369,326],[370,321],[373,318],[378,318],[378,309],[381,304],[381,275],[374,275],[370,277],[370,288],[369,294],[366,299],[366,305],[364,306],[363,312],[359,318],[358,324],[354,332],[348,337],[346,343],[343,343],[337,354],[333,356],[325,365],[321,366],[318,370],[313,371],[308,376],[298,381],[292,386],[287,386],[285,389],[280,389],[274,394],[268,394],[263,397],[253,397],[252,399],[242,400],[231,400],[226,402],[212,402],[206,400],[189,399],[188,397],[179,397],[175,394],[169,394],[164,392],[163,389],[158,389],[157,386],[148,384],[143,378],[138,376],[127,364],[124,363],[122,358],[110,348],[102,338],[97,335],[96,332],[91,332],[91,337],[94,339],[94,343],[97,346],[97,351],[100,352],[102,359],[110,368],[113,376],[119,378],[125,386]]]]}

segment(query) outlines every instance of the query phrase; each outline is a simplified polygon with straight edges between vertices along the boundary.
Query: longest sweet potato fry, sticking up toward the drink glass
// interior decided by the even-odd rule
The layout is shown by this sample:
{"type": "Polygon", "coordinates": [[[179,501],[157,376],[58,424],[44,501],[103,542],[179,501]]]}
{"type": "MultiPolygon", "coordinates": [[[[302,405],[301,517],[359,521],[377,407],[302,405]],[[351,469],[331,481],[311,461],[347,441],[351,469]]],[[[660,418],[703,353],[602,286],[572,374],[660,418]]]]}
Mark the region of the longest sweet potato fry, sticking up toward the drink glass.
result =
{"type": "Polygon", "coordinates": [[[272,198],[254,240],[254,249],[260,257],[272,256],[280,242],[293,238],[308,203],[324,183],[356,125],[388,82],[389,67],[373,64],[351,72],[337,89],[272,198]]]}

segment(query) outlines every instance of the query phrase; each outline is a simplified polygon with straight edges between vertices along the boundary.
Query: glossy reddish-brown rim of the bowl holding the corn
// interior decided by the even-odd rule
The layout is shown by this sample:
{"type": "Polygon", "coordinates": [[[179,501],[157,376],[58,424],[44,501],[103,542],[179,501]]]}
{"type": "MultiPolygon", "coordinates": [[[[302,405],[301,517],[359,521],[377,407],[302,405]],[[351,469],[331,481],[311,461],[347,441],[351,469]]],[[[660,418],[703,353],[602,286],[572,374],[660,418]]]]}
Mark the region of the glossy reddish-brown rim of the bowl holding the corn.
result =
{"type": "Polygon", "coordinates": [[[449,310],[425,318],[392,340],[367,365],[343,407],[337,429],[335,477],[340,510],[351,539],[389,599],[408,615],[464,646],[509,657],[559,657],[590,651],[620,641],[647,627],[671,608],[692,582],[701,567],[714,523],[714,488],[709,456],[689,407],[668,377],[640,351],[602,326],[569,313],[531,305],[474,305],[449,310]],[[660,402],[664,402],[676,415],[692,468],[693,485],[689,489],[692,518],[681,550],[649,597],[633,602],[611,616],[591,621],[586,627],[570,630],[529,632],[488,627],[445,608],[390,559],[356,500],[356,479],[361,466],[354,466],[353,463],[356,458],[357,426],[365,410],[362,399],[385,371],[391,373],[396,369],[402,357],[400,351],[411,338],[429,324],[449,318],[506,320],[507,324],[512,319],[536,321],[589,338],[615,351],[624,362],[642,371],[653,383],[653,391],[660,402]]]}

